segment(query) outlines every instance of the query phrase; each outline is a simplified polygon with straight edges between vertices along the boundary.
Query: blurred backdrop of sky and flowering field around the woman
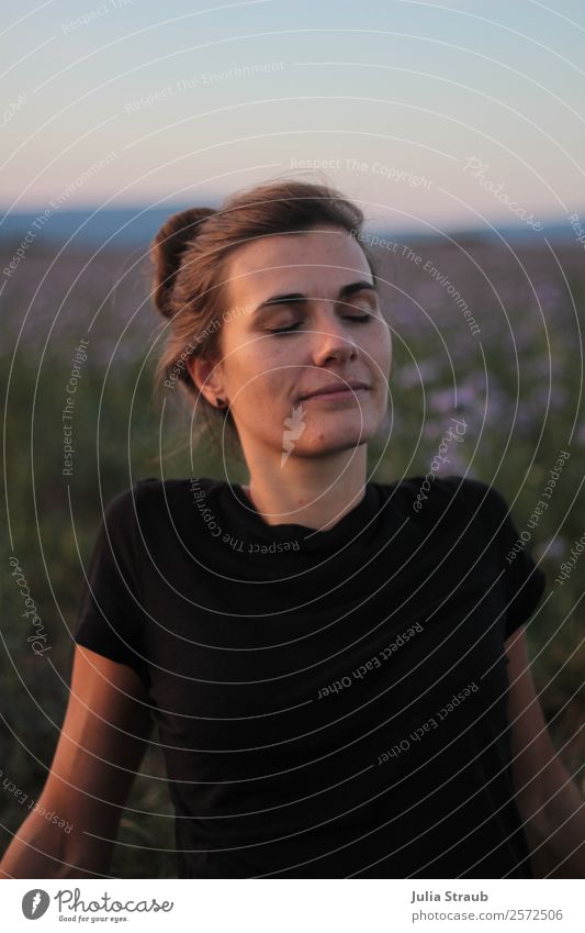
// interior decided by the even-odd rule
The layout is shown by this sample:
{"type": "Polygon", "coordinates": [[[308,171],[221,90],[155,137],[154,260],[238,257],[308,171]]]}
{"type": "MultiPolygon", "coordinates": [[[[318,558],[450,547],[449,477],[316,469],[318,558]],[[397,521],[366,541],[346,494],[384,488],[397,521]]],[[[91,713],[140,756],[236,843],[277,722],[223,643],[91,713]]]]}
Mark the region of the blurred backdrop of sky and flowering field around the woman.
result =
{"type": "MultiPolygon", "coordinates": [[[[585,790],[583,3],[56,0],[7,13],[0,43],[0,852],[50,766],[103,503],[142,477],[247,478],[211,438],[190,445],[172,392],[154,396],[151,237],[272,178],[335,185],[378,242],[394,362],[371,477],[426,474],[464,418],[440,471],[494,484],[529,532],[548,578],[532,669],[585,790]]],[[[156,745],[143,771],[112,874],[171,877],[156,745]]]]}

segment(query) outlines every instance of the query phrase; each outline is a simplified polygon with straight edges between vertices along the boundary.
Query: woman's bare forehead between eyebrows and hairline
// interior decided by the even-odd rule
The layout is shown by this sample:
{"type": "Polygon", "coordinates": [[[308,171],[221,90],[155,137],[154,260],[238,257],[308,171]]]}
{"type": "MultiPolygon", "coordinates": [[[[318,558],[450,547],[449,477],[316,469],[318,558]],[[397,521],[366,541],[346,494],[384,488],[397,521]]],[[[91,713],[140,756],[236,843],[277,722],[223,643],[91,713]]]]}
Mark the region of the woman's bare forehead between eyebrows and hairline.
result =
{"type": "Polygon", "coordinates": [[[246,243],[228,266],[229,293],[238,303],[262,301],[274,289],[329,297],[356,278],[372,281],[360,244],[347,230],[325,225],[246,243]]]}

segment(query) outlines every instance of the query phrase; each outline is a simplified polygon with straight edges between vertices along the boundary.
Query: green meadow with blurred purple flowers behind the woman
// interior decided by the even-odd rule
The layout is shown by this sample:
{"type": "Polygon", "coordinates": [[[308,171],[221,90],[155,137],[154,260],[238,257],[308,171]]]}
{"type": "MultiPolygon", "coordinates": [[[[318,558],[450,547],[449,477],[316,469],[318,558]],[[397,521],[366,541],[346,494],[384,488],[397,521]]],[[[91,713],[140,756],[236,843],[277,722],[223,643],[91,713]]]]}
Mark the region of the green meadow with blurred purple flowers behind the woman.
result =
{"type": "MultiPolygon", "coordinates": [[[[392,243],[376,251],[394,359],[389,416],[369,446],[371,477],[391,482],[426,474],[450,419],[464,419],[464,443],[450,446],[450,463],[439,471],[493,482],[524,530],[560,453],[570,454],[549,509],[531,530],[530,549],[553,596],[528,636],[551,734],[585,791],[585,557],[562,586],[554,582],[585,531],[583,249],[540,240],[511,248],[471,235],[392,243]]],[[[15,245],[2,244],[2,267],[15,245]]],[[[101,503],[142,477],[225,478],[211,441],[190,449],[189,411],[170,391],[162,400],[154,395],[160,327],[143,253],[37,242],[3,279],[0,780],[8,784],[0,784],[0,852],[50,766],[67,702],[82,566],[101,503]],[[71,418],[64,420],[68,404],[71,418]],[[64,425],[70,429],[68,475],[64,425]],[[10,558],[26,579],[50,664],[26,641],[32,630],[10,558]]],[[[227,467],[227,478],[246,480],[241,463],[227,467]]],[[[155,746],[142,770],[112,875],[172,877],[172,812],[155,746]]]]}

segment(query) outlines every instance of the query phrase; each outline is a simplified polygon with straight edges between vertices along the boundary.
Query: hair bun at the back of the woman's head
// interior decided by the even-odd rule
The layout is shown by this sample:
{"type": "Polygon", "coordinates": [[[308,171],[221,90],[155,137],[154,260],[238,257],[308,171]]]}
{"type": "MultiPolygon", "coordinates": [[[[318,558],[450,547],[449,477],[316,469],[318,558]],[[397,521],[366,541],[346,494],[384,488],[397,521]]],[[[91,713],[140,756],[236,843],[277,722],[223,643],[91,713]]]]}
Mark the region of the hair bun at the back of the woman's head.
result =
{"type": "Polygon", "coordinates": [[[156,307],[166,318],[172,316],[171,293],[183,254],[196,238],[203,221],[214,213],[217,212],[211,208],[179,211],[165,221],[153,241],[156,265],[154,298],[156,307]]]}

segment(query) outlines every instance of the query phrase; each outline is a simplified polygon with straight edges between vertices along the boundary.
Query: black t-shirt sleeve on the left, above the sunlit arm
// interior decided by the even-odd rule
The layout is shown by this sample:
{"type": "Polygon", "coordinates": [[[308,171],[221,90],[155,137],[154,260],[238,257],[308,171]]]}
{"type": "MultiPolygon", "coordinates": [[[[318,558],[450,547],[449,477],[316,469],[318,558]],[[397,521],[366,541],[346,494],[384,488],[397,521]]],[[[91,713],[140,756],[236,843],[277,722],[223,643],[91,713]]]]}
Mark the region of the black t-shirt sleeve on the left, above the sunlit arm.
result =
{"type": "Polygon", "coordinates": [[[104,657],[127,664],[146,681],[143,655],[136,487],[106,507],[89,566],[83,568],[75,641],[104,657]]]}

